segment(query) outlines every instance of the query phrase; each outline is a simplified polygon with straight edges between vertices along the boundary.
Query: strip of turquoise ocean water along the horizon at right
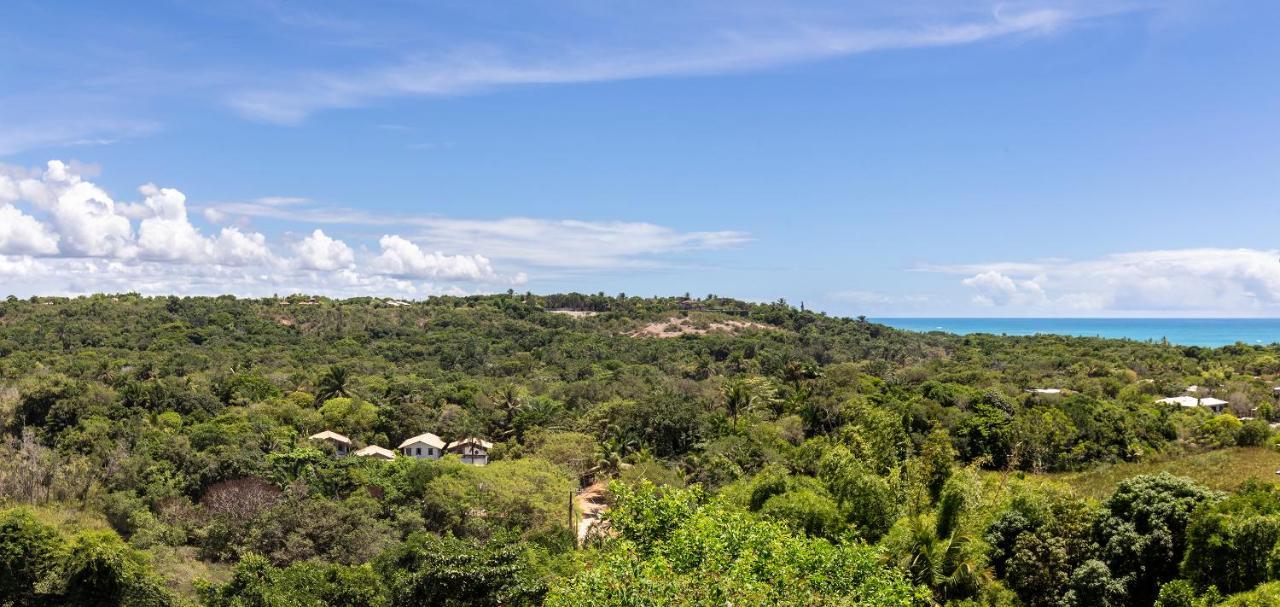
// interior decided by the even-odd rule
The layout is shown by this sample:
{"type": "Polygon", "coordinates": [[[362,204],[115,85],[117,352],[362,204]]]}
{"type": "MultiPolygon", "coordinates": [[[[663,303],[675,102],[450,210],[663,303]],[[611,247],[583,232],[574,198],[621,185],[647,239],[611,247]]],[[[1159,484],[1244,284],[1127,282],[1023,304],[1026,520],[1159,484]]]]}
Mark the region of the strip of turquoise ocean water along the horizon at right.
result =
{"type": "Polygon", "coordinates": [[[1169,339],[1179,346],[1217,347],[1230,343],[1280,342],[1280,319],[974,319],[888,318],[870,319],[899,329],[1005,336],[1085,336],[1138,341],[1169,339]]]}

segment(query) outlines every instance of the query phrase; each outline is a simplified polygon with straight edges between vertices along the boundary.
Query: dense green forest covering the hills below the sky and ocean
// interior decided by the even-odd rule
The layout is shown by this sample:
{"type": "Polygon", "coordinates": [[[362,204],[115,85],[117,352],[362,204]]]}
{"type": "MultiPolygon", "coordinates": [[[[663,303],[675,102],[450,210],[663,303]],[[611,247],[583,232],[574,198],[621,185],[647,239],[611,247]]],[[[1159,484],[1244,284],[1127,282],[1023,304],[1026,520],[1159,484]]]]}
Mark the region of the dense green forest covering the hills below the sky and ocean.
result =
{"type": "Polygon", "coordinates": [[[1270,457],[1277,374],[716,296],[10,297],[0,604],[1277,604],[1270,479],[1073,483],[1270,457]]]}

